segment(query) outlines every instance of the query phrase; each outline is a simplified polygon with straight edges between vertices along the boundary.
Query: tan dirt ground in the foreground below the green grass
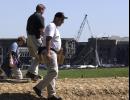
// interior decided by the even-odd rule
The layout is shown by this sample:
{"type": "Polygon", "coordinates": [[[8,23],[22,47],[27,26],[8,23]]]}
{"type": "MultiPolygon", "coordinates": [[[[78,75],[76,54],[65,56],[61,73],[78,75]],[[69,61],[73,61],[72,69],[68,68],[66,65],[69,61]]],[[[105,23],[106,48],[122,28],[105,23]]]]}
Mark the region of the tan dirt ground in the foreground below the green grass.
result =
{"type": "MultiPolygon", "coordinates": [[[[0,100],[42,100],[32,90],[35,84],[2,82],[0,100]]],[[[129,78],[126,77],[59,79],[56,89],[63,100],[129,100],[129,78]]]]}

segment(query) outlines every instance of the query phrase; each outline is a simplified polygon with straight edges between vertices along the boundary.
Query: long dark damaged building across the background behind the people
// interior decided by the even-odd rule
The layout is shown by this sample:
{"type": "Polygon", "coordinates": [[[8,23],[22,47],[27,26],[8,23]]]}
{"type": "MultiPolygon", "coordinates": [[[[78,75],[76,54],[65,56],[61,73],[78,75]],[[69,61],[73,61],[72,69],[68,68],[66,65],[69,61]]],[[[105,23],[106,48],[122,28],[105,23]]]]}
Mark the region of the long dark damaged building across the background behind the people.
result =
{"type": "MultiPolygon", "coordinates": [[[[0,64],[6,55],[8,47],[14,41],[16,39],[0,39],[0,64]]],[[[20,50],[22,55],[21,60],[24,64],[30,64],[31,56],[26,45],[24,47],[20,50]]],[[[62,38],[62,47],[65,55],[64,64],[97,65],[98,61],[95,52],[97,50],[101,64],[129,65],[129,41],[119,41],[103,37],[90,38],[88,42],[77,43],[73,38],[62,38]]]]}

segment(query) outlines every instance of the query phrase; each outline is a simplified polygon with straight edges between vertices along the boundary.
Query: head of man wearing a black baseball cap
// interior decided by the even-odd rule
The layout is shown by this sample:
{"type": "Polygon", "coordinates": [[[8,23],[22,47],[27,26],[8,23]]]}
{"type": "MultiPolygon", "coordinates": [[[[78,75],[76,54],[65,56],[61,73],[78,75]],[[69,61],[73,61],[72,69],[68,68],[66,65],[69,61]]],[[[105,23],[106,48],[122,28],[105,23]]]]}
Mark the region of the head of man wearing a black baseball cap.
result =
{"type": "Polygon", "coordinates": [[[67,18],[68,17],[65,17],[63,12],[57,12],[54,17],[54,22],[56,26],[61,26],[64,23],[64,19],[67,18]]]}

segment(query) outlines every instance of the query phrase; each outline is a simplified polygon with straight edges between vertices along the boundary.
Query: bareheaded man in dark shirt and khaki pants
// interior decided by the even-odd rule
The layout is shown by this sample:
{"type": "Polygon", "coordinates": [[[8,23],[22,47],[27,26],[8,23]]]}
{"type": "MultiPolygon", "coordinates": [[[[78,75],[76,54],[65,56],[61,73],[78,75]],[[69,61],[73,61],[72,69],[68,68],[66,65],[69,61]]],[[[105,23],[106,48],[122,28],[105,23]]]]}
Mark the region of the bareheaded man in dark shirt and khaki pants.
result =
{"type": "Polygon", "coordinates": [[[27,21],[27,46],[29,52],[32,56],[31,66],[29,67],[26,77],[37,81],[41,78],[38,75],[39,70],[39,58],[37,55],[38,48],[42,45],[42,34],[44,33],[44,17],[42,16],[45,11],[45,6],[43,4],[38,4],[36,6],[36,12],[32,14],[27,21]]]}

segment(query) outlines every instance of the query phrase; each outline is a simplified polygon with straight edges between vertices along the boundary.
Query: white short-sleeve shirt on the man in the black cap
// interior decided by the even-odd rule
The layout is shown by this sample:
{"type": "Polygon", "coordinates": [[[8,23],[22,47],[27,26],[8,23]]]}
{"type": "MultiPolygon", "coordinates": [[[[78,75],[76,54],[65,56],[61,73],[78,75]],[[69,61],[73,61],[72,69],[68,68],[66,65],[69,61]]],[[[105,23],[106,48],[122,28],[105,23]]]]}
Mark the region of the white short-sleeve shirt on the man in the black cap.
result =
{"type": "Polygon", "coordinates": [[[51,48],[55,49],[56,51],[59,51],[61,49],[61,37],[60,37],[60,32],[54,23],[50,23],[45,29],[45,33],[43,36],[44,37],[44,39],[43,39],[44,46],[46,46],[46,37],[47,36],[52,37],[51,48]]]}

